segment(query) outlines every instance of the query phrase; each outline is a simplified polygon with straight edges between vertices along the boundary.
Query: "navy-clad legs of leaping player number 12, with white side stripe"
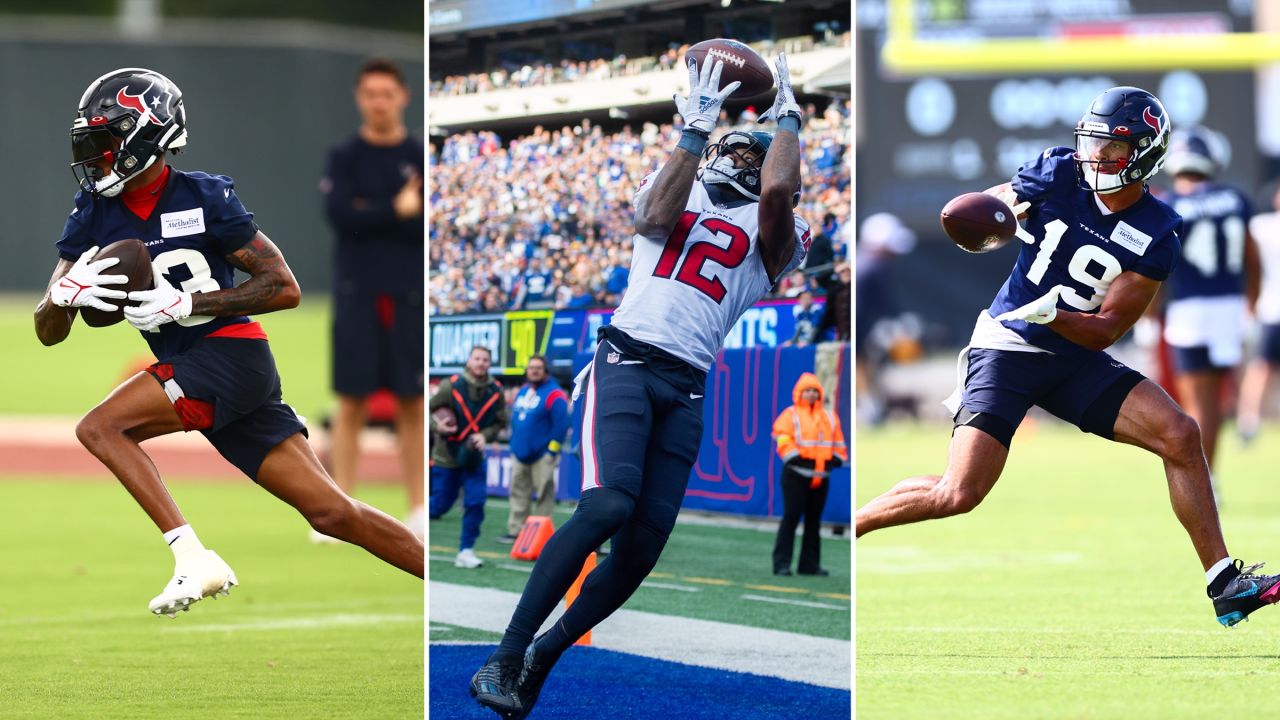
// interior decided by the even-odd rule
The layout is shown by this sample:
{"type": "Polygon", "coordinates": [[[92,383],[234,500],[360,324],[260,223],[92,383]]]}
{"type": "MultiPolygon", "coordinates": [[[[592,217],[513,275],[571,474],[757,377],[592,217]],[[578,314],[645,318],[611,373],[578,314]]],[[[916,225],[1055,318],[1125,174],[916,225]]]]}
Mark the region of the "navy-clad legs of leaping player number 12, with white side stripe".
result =
{"type": "Polygon", "coordinates": [[[543,547],[495,657],[517,662],[586,556],[613,538],[548,633],[564,650],[622,606],[658,562],[701,443],[705,375],[608,328],[585,391],[582,498],[543,547]]]}

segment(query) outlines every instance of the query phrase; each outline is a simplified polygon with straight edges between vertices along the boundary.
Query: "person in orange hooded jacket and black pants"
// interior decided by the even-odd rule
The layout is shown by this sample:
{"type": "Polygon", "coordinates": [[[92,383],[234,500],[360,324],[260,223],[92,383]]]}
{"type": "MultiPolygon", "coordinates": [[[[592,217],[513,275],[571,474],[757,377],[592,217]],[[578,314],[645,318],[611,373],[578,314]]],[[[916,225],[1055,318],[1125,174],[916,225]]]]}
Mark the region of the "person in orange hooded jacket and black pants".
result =
{"type": "Polygon", "coordinates": [[[818,527],[827,505],[827,479],[831,470],[849,461],[840,418],[822,406],[822,383],[813,373],[804,373],[791,391],[795,405],[773,421],[773,439],[782,457],[782,521],[773,544],[773,574],[791,574],[791,548],[796,525],[804,515],[804,539],[800,543],[801,575],[827,575],[818,562],[820,544],[818,527]]]}

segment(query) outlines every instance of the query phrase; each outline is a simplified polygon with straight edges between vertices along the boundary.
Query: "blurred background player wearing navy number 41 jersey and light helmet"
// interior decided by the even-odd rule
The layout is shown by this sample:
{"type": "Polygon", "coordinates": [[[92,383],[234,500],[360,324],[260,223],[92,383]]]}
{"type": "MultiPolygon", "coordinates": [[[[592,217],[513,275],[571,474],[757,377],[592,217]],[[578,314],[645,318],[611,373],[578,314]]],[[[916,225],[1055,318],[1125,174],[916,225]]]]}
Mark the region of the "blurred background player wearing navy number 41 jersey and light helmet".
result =
{"type": "Polygon", "coordinates": [[[1183,217],[1183,259],[1165,288],[1165,342],[1174,350],[1174,382],[1187,414],[1201,427],[1204,457],[1222,427],[1222,391],[1244,354],[1244,311],[1253,313],[1261,266],[1249,236],[1251,202],[1215,182],[1226,167],[1226,142],[1208,128],[1174,133],[1165,172],[1170,205],[1183,217]]]}

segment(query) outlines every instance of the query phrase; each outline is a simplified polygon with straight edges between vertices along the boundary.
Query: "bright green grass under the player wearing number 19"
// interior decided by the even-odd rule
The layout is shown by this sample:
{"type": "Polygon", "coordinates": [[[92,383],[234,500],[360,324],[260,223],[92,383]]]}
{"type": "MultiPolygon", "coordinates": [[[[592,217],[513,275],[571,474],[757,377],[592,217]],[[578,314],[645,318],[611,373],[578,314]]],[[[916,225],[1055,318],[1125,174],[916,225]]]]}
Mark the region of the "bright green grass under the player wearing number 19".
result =
{"type": "MultiPolygon", "coordinates": [[[[1029,430],[1029,432],[1027,432],[1029,430]]],[[[1280,571],[1280,428],[1225,437],[1228,547],[1280,571]]],[[[858,503],[941,473],[948,428],[858,436],[858,503]]],[[[1280,609],[1224,629],[1161,461],[1038,423],[969,515],[858,541],[859,720],[1271,716],[1280,609]]]]}

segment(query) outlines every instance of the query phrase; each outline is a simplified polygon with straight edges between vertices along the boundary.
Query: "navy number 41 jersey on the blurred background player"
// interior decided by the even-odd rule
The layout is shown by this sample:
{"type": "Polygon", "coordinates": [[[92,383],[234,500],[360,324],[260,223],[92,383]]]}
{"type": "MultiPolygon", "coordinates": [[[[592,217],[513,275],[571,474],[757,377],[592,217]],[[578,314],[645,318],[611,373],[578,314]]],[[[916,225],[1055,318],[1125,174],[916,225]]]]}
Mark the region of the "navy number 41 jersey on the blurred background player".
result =
{"type": "Polygon", "coordinates": [[[1252,210],[1234,187],[1201,183],[1170,205],[1183,217],[1183,261],[1169,278],[1169,299],[1244,295],[1244,233],[1252,210]]]}

